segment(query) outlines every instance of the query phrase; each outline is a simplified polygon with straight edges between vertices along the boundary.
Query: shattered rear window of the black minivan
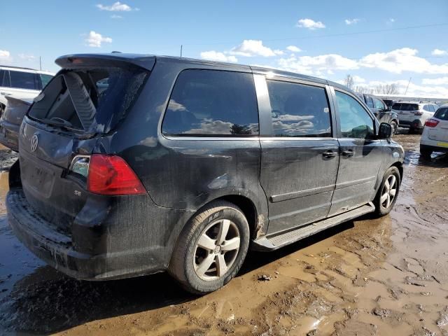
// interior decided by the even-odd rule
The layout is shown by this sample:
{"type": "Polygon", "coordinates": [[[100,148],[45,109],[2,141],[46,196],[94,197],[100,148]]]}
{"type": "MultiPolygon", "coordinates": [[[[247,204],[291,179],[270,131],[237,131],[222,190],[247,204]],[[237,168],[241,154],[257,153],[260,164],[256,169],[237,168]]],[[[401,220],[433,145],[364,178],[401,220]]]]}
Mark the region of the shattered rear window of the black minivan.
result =
{"type": "Polygon", "coordinates": [[[29,117],[67,129],[109,132],[125,116],[147,75],[137,67],[63,70],[34,99],[29,117]]]}

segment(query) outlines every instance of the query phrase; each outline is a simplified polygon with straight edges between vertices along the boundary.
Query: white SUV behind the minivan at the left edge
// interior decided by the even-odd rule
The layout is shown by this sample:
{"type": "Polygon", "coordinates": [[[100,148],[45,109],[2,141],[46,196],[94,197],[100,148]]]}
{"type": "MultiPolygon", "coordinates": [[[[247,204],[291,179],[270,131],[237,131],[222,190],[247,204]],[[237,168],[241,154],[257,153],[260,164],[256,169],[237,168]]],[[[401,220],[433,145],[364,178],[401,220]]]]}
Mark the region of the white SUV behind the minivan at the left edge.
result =
{"type": "Polygon", "coordinates": [[[6,97],[34,99],[54,73],[16,66],[0,66],[0,115],[6,107],[6,97]]]}

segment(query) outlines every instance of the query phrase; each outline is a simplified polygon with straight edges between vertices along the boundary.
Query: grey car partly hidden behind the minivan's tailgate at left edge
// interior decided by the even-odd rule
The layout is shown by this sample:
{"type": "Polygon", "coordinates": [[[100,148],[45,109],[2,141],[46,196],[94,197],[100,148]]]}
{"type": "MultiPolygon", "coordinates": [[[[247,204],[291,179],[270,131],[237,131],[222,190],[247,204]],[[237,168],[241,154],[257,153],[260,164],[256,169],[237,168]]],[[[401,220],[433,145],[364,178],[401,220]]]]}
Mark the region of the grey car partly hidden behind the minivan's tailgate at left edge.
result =
{"type": "Polygon", "coordinates": [[[32,99],[18,99],[12,96],[7,96],[6,101],[6,109],[0,116],[0,143],[18,152],[20,124],[33,101],[32,99]]]}

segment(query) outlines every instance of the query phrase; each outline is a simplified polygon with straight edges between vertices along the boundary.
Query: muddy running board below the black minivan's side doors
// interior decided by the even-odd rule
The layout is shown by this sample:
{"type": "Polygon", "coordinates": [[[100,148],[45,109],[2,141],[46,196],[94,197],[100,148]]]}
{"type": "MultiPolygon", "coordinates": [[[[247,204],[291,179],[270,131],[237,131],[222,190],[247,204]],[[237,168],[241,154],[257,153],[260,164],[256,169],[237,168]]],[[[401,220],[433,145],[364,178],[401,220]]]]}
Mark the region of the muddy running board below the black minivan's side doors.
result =
{"type": "Polygon", "coordinates": [[[284,232],[280,235],[271,237],[261,237],[252,241],[252,248],[255,251],[273,251],[295,241],[299,241],[300,239],[315,235],[316,233],[328,228],[332,228],[335,225],[350,221],[353,218],[369,214],[374,210],[375,207],[372,202],[370,202],[369,204],[365,204],[362,207],[344,212],[343,214],[339,214],[337,216],[325,218],[322,221],[302,226],[293,231],[284,232]]]}

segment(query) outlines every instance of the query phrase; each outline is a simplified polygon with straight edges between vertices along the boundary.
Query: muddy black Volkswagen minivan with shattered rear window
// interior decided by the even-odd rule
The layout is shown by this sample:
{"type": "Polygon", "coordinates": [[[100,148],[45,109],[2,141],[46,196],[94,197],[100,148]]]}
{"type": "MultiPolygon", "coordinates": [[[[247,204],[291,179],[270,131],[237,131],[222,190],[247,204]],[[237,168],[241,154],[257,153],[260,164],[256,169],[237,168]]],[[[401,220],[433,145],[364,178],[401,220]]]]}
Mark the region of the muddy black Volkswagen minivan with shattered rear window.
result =
{"type": "Polygon", "coordinates": [[[255,66],[67,55],[20,127],[8,218],[78,279],[225,285],[272,251],[391,211],[402,147],[346,87],[255,66]]]}

